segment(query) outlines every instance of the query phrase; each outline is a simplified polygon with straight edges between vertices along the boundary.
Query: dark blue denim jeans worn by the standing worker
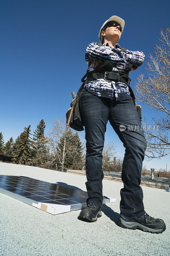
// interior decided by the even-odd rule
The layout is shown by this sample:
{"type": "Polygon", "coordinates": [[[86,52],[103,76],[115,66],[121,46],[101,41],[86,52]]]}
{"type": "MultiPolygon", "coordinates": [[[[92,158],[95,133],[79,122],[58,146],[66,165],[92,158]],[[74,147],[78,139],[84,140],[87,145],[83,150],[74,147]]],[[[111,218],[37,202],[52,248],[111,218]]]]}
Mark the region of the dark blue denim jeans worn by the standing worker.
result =
{"type": "Polygon", "coordinates": [[[79,109],[85,127],[87,204],[96,203],[100,207],[103,204],[102,151],[106,124],[109,120],[125,148],[121,175],[124,188],[120,190],[120,216],[130,220],[139,218],[145,214],[140,183],[147,141],[133,100],[116,100],[115,95],[113,99],[99,97],[83,88],[79,109]],[[125,129],[120,129],[121,124],[125,129]]]}

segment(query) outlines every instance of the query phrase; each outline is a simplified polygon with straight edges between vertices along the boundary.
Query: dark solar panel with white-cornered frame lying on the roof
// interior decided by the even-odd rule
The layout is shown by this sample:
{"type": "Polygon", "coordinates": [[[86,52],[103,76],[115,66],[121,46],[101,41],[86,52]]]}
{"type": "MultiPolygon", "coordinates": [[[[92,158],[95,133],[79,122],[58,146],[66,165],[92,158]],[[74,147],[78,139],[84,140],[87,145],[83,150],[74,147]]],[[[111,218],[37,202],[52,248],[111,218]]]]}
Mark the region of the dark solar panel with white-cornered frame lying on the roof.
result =
{"type": "MultiPolygon", "coordinates": [[[[13,175],[0,175],[0,193],[51,214],[85,208],[88,198],[86,191],[13,175]]],[[[116,198],[103,196],[103,204],[115,201],[116,198]]]]}

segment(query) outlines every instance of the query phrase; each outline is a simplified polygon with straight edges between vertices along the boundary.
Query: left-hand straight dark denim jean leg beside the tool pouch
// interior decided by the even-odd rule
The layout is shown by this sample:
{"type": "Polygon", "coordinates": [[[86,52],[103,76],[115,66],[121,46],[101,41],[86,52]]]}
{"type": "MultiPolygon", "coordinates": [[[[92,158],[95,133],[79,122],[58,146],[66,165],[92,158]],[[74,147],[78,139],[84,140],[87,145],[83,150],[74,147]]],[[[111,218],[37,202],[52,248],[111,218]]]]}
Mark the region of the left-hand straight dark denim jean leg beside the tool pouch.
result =
{"type": "Polygon", "coordinates": [[[86,139],[86,188],[88,203],[103,204],[104,177],[102,170],[102,151],[104,134],[109,116],[109,99],[98,97],[87,90],[83,90],[80,97],[79,108],[86,139]]]}

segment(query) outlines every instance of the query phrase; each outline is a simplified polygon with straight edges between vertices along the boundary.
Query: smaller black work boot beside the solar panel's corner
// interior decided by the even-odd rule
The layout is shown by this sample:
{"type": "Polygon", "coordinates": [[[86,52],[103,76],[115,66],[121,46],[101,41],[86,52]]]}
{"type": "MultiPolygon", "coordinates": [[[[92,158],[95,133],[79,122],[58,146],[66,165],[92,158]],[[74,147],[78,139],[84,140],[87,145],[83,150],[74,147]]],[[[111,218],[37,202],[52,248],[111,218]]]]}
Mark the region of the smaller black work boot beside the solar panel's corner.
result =
{"type": "Polygon", "coordinates": [[[101,208],[98,204],[89,203],[86,208],[82,209],[79,218],[95,222],[97,217],[102,216],[101,208]]]}

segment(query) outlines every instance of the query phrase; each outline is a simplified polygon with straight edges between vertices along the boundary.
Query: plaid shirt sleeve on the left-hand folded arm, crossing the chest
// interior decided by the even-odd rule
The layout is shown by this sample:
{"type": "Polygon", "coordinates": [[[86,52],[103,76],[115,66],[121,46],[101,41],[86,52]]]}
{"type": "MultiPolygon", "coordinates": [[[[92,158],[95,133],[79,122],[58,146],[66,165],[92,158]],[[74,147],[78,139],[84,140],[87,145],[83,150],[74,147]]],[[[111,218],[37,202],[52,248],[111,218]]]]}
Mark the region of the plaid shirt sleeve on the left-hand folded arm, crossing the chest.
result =
{"type": "Polygon", "coordinates": [[[104,62],[106,60],[110,60],[112,64],[117,63],[117,61],[121,61],[121,57],[111,51],[107,46],[99,46],[97,43],[90,43],[86,48],[85,60],[94,61],[97,60],[99,62],[104,62]]]}

